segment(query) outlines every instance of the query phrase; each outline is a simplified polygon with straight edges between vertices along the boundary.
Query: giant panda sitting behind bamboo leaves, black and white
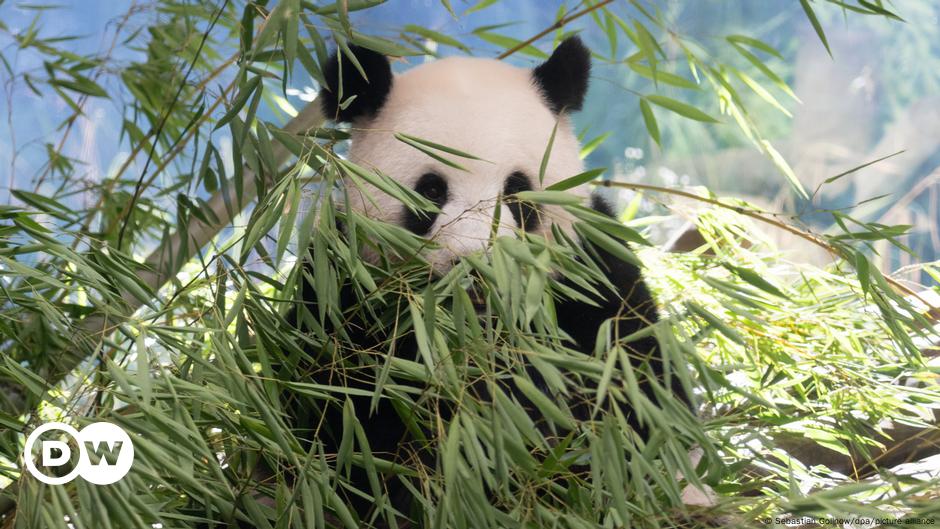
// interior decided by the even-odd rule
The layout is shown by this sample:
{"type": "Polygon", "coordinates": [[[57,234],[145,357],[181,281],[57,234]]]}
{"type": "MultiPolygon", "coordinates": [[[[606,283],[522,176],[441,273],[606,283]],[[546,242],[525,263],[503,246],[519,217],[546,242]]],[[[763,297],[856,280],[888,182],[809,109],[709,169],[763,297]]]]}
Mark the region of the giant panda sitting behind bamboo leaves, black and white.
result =
{"type": "MultiPolygon", "coordinates": [[[[358,67],[346,53],[335,53],[324,67],[326,85],[318,96],[327,119],[350,125],[348,158],[414,190],[435,204],[439,212],[416,212],[369,185],[347,186],[344,207],[434,241],[436,244],[423,257],[438,277],[461,258],[485,250],[497,215],[496,231],[500,236],[516,236],[524,231],[551,237],[552,225],[574,236],[574,219],[562,208],[536,206],[514,201],[512,197],[521,191],[544,189],[584,170],[571,114],[584,102],[591,58],[578,37],[562,41],[551,56],[534,69],[492,59],[450,57],[393,74],[388,57],[362,47],[349,46],[348,49],[358,67]],[[543,156],[553,131],[551,154],[540,181],[543,156]],[[482,160],[461,159],[466,168],[461,171],[399,141],[394,136],[396,132],[472,153],[482,160]]],[[[592,194],[588,186],[581,185],[570,192],[597,212],[612,215],[610,205],[601,196],[592,194]]],[[[586,242],[581,244],[592,246],[586,242]]],[[[555,312],[558,326],[571,338],[568,345],[592,354],[598,331],[605,321],[616,319],[618,324],[610,328],[616,328],[620,336],[627,336],[657,322],[658,315],[656,302],[636,264],[598,247],[591,247],[585,254],[598,261],[597,265],[614,288],[598,286],[594,292],[586,294],[591,302],[557,299],[555,312]]],[[[370,259],[370,256],[364,258],[370,259]]],[[[303,307],[299,310],[306,314],[295,319],[301,330],[306,329],[304,317],[316,318],[320,312],[309,280],[313,273],[308,263],[307,280],[301,281],[298,288],[296,301],[303,307]]],[[[586,292],[583,286],[566,277],[557,276],[556,280],[568,289],[586,292]]],[[[352,305],[356,303],[356,294],[345,285],[339,299],[344,306],[352,305]]],[[[329,330],[330,323],[324,325],[329,330]]],[[[383,331],[376,329],[374,321],[353,318],[343,325],[348,326],[345,330],[350,340],[356,342],[357,349],[375,351],[384,343],[383,331]]],[[[632,341],[629,346],[638,363],[644,363],[657,374],[663,370],[663,360],[652,335],[632,341]]],[[[342,375],[338,371],[323,366],[356,362],[336,358],[343,354],[337,349],[310,351],[316,365],[309,368],[309,376],[325,384],[341,383],[342,375]]],[[[415,356],[414,343],[396,344],[395,354],[415,356]]],[[[362,378],[368,376],[359,373],[357,380],[343,379],[342,383],[371,390],[370,382],[362,378]]],[[[668,386],[681,401],[688,402],[677,377],[671,377],[668,386]]],[[[647,394],[653,397],[648,389],[647,394]]],[[[402,410],[394,409],[384,399],[377,407],[373,407],[369,397],[351,399],[373,453],[408,464],[406,460],[411,456],[403,452],[412,455],[421,452],[421,449],[409,448],[414,440],[406,428],[402,410]]],[[[572,404],[572,410],[576,418],[587,420],[590,406],[572,404]]],[[[645,426],[630,410],[624,412],[631,426],[643,435],[645,426]]],[[[295,403],[291,413],[300,423],[301,437],[315,436],[326,454],[340,449],[342,402],[315,409],[295,403]]],[[[433,454],[418,457],[433,464],[433,454]]],[[[347,471],[361,490],[370,490],[362,469],[347,471]]],[[[391,476],[383,487],[395,508],[407,517],[414,501],[409,487],[401,483],[400,478],[391,476]]],[[[374,502],[351,492],[341,490],[340,493],[354,506],[360,519],[374,518],[370,511],[374,502]]]]}

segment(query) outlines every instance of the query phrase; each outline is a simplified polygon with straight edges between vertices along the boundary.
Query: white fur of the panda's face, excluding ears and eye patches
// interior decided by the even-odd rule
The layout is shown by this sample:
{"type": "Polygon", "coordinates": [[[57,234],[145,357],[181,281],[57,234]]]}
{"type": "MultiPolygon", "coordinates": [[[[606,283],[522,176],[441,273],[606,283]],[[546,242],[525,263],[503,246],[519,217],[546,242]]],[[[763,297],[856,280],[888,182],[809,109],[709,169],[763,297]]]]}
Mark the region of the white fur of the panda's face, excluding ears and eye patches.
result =
{"type": "MultiPolygon", "coordinates": [[[[451,57],[395,76],[379,115],[354,123],[352,161],[413,187],[434,172],[447,180],[449,200],[429,236],[441,245],[426,256],[439,269],[454,257],[480,250],[490,236],[497,197],[513,171],[525,173],[534,190],[583,171],[580,146],[567,117],[553,114],[532,81],[532,71],[491,59],[451,57]],[[558,123],[543,182],[539,167],[558,123]],[[394,137],[401,132],[473,154],[486,161],[450,157],[468,171],[448,167],[394,137]]],[[[588,196],[587,186],[571,190],[588,196]]],[[[351,188],[351,206],[372,218],[401,223],[402,204],[374,188],[369,198],[351,188]],[[370,200],[371,199],[371,200],[370,200]]],[[[500,235],[516,228],[501,205],[500,235]]],[[[571,232],[561,208],[543,207],[540,232],[554,222],[571,232]]]]}

